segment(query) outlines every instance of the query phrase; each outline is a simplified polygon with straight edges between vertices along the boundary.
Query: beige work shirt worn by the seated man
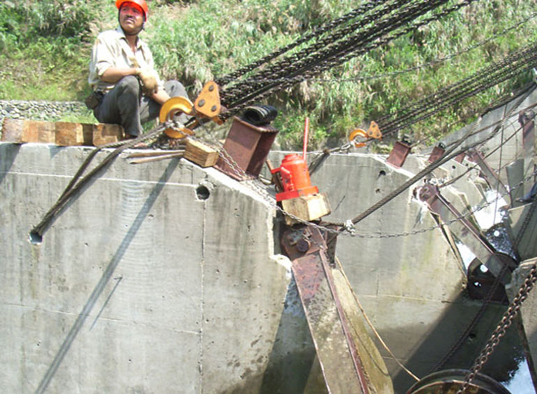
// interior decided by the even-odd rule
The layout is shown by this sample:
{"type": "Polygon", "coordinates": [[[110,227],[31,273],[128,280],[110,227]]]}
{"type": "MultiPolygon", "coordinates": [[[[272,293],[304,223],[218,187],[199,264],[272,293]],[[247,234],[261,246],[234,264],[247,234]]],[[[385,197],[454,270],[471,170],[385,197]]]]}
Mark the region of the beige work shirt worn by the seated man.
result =
{"type": "MultiPolygon", "coordinates": [[[[101,81],[100,77],[109,67],[114,68],[144,68],[155,72],[153,55],[147,44],[139,37],[136,42],[136,51],[130,48],[125,33],[120,26],[116,30],[103,31],[97,36],[93,49],[91,49],[91,61],[89,63],[89,86],[93,90],[107,93],[114,88],[115,84],[101,81]]],[[[163,87],[158,78],[159,90],[163,87]]]]}

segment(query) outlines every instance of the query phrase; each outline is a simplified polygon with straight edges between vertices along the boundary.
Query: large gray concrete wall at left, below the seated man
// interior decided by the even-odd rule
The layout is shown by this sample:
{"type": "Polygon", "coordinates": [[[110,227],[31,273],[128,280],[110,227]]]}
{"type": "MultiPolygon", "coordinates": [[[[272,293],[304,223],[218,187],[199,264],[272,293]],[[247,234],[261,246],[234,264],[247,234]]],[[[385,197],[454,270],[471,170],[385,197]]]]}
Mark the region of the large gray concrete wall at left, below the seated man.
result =
{"type": "Polygon", "coordinates": [[[3,393],[257,391],[290,279],[273,210],[213,169],[120,158],[31,244],[88,153],[0,145],[3,393]]]}

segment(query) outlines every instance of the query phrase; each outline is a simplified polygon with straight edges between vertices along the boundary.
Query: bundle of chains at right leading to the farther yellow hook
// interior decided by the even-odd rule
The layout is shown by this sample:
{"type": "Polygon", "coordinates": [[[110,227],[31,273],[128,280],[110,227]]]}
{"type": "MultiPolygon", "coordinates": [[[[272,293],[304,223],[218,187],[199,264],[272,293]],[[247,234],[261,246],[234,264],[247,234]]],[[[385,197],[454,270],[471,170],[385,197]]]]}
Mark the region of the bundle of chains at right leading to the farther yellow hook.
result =
{"type": "MultiPolygon", "coordinates": [[[[407,105],[407,107],[404,107],[398,111],[400,115],[395,115],[397,116],[396,118],[394,118],[393,115],[380,118],[377,120],[377,124],[381,129],[388,130],[387,132],[389,133],[390,131],[393,131],[393,129],[402,128],[400,127],[400,124],[412,116],[416,116],[416,114],[424,112],[427,109],[434,107],[434,105],[438,105],[439,103],[449,100],[449,98],[446,97],[451,97],[451,100],[454,100],[454,97],[457,97],[457,95],[464,95],[464,93],[468,93],[472,89],[477,89],[476,85],[483,86],[485,81],[494,81],[494,78],[497,78],[499,81],[504,81],[507,79],[506,76],[510,75],[510,70],[513,68],[515,68],[515,70],[524,68],[524,65],[526,65],[529,61],[533,61],[535,63],[537,58],[535,54],[536,49],[537,43],[534,42],[531,45],[528,45],[527,47],[524,47],[511,54],[507,58],[504,58],[502,61],[493,63],[492,65],[489,65],[486,68],[470,75],[469,77],[457,81],[451,86],[441,88],[437,92],[418,100],[418,102],[407,105]],[[513,63],[515,63],[515,66],[513,66],[513,63]],[[389,118],[394,119],[386,121],[389,118]]],[[[495,84],[490,86],[494,86],[495,84]]],[[[487,88],[490,86],[487,86],[487,88]]],[[[484,90],[484,88],[482,90],[484,90]]],[[[384,134],[386,134],[386,132],[384,134]]]]}

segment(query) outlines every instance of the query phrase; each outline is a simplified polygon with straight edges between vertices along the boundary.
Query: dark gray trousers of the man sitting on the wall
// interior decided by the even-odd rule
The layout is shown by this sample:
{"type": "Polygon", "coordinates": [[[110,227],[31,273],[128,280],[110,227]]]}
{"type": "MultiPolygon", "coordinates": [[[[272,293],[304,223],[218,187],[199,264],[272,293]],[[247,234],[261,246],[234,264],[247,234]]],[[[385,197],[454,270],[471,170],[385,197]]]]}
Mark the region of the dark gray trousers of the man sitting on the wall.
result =
{"type": "MultiPolygon", "coordinates": [[[[169,97],[188,97],[185,87],[178,81],[167,81],[164,90],[169,97]]],[[[93,109],[93,115],[100,123],[121,125],[126,136],[138,136],[142,133],[142,123],[155,119],[159,111],[160,104],[142,95],[138,79],[129,75],[103,97],[103,101],[93,109]]]]}

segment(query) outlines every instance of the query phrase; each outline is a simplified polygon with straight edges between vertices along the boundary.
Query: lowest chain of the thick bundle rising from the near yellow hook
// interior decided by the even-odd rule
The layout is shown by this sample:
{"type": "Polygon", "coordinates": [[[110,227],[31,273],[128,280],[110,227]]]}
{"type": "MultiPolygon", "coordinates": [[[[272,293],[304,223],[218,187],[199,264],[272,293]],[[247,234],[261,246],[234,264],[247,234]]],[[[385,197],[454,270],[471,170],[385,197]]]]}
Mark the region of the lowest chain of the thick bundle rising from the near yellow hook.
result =
{"type": "Polygon", "coordinates": [[[447,8],[446,10],[442,11],[438,15],[435,15],[434,17],[430,17],[428,19],[425,19],[424,21],[417,22],[416,24],[413,24],[413,25],[405,28],[403,31],[400,31],[397,34],[394,34],[392,36],[387,36],[385,38],[381,38],[381,39],[377,40],[376,42],[373,42],[371,45],[363,47],[362,50],[360,52],[358,52],[358,53],[352,52],[350,54],[347,54],[347,56],[342,56],[340,58],[335,58],[330,62],[323,63],[322,66],[320,66],[318,68],[315,68],[315,70],[312,70],[312,71],[310,70],[310,72],[307,72],[307,73],[305,73],[303,75],[299,75],[297,77],[292,77],[292,78],[287,79],[285,84],[280,84],[278,86],[273,86],[269,90],[264,91],[264,93],[259,93],[257,95],[252,95],[252,97],[249,97],[249,100],[246,101],[246,102],[243,102],[243,104],[240,104],[240,105],[234,104],[234,108],[231,111],[225,113],[222,117],[227,119],[230,116],[233,116],[235,113],[241,111],[241,109],[243,109],[244,107],[247,107],[248,105],[252,104],[252,102],[255,102],[256,100],[263,100],[267,96],[271,95],[276,89],[281,90],[283,88],[288,88],[288,87],[290,87],[290,86],[292,86],[294,84],[297,84],[297,83],[299,83],[299,82],[301,82],[301,81],[303,81],[305,79],[308,79],[308,78],[312,77],[313,74],[326,71],[326,70],[328,70],[330,68],[333,68],[335,65],[339,65],[340,63],[344,63],[345,61],[348,61],[352,57],[355,57],[355,56],[358,56],[360,54],[363,54],[363,53],[367,52],[368,50],[375,49],[376,47],[379,47],[381,45],[385,45],[387,42],[390,42],[391,40],[393,40],[395,38],[398,38],[399,36],[402,36],[403,34],[408,33],[411,30],[418,29],[418,27],[423,26],[424,24],[430,23],[434,19],[438,19],[439,17],[443,17],[443,16],[447,15],[448,13],[453,12],[453,10],[457,10],[457,9],[462,8],[463,6],[467,6],[469,3],[473,2],[473,1],[476,1],[476,0],[464,0],[464,1],[462,1],[462,3],[458,3],[455,6],[447,8]]]}

